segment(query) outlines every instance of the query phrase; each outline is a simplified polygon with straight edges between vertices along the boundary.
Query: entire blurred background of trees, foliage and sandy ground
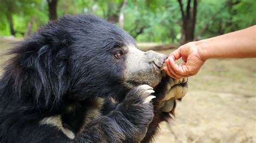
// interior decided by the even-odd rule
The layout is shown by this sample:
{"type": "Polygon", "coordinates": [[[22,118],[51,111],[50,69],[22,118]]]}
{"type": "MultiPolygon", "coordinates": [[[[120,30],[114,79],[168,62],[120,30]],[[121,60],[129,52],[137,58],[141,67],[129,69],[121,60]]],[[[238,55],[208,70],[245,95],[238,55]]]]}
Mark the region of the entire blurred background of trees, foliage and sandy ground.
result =
{"type": "MultiPolygon", "coordinates": [[[[123,28],[143,51],[168,55],[186,42],[255,25],[256,1],[0,0],[0,54],[49,20],[82,13],[123,28]]],[[[255,65],[255,59],[206,61],[189,78],[176,119],[161,124],[154,142],[256,142],[255,65]]]]}

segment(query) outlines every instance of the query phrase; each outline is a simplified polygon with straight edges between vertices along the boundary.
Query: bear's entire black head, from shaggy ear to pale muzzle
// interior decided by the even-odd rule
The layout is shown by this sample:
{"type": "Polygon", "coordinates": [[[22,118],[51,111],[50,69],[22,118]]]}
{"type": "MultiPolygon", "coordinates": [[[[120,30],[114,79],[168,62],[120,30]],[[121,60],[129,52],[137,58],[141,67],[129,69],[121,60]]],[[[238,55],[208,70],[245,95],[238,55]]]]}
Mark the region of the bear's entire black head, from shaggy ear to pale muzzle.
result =
{"type": "Polygon", "coordinates": [[[36,101],[46,105],[63,96],[122,99],[139,84],[155,87],[164,75],[160,67],[167,58],[140,51],[128,33],[91,15],[49,22],[11,53],[16,56],[7,70],[16,71],[17,91],[31,87],[36,101]]]}

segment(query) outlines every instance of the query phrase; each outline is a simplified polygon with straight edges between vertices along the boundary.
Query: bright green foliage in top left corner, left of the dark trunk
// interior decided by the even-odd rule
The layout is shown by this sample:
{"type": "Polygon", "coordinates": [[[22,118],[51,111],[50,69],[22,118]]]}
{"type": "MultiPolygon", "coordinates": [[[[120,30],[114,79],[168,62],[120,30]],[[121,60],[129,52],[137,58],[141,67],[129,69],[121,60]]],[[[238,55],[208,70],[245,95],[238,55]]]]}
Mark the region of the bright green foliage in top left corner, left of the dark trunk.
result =
{"type": "Polygon", "coordinates": [[[0,4],[0,35],[10,35],[8,16],[10,16],[14,23],[14,29],[17,32],[16,36],[22,36],[25,33],[29,20],[34,17],[35,24],[32,28],[36,30],[38,25],[48,22],[47,4],[41,3],[40,0],[2,0],[0,4]]]}

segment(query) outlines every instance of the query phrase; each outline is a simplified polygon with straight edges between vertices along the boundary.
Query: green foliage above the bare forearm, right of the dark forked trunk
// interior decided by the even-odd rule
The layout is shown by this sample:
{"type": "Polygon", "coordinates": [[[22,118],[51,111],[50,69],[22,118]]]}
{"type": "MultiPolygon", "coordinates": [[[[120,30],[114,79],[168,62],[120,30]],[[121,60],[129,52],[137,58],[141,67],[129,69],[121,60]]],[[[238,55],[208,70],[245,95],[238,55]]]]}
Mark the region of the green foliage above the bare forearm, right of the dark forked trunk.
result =
{"type": "Polygon", "coordinates": [[[198,5],[196,35],[204,39],[255,25],[255,8],[256,2],[253,0],[201,0],[198,5]]]}

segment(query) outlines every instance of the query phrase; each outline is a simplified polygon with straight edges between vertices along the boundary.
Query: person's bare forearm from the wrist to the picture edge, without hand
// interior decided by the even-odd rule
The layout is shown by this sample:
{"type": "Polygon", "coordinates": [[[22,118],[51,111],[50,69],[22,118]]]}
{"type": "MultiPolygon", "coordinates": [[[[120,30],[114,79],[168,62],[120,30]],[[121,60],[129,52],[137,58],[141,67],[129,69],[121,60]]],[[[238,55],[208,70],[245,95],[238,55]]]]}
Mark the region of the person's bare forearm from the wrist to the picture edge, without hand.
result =
{"type": "Polygon", "coordinates": [[[203,60],[211,58],[256,58],[256,25],[244,30],[197,41],[203,60]]]}

